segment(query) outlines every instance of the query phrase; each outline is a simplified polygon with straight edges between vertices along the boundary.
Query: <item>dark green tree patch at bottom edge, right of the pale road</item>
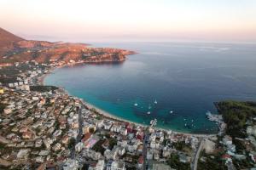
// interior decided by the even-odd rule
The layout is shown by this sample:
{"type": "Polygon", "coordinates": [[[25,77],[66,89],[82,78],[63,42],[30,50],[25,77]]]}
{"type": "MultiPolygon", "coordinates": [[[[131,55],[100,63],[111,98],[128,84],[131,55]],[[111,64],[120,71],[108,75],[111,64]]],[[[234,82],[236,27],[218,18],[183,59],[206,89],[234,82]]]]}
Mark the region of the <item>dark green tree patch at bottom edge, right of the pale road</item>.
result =
{"type": "Polygon", "coordinates": [[[201,152],[200,159],[198,161],[198,170],[226,170],[227,167],[225,166],[225,162],[222,160],[221,156],[223,155],[222,152],[218,152],[218,154],[207,154],[205,150],[201,152]],[[201,161],[203,158],[204,161],[201,161]]]}

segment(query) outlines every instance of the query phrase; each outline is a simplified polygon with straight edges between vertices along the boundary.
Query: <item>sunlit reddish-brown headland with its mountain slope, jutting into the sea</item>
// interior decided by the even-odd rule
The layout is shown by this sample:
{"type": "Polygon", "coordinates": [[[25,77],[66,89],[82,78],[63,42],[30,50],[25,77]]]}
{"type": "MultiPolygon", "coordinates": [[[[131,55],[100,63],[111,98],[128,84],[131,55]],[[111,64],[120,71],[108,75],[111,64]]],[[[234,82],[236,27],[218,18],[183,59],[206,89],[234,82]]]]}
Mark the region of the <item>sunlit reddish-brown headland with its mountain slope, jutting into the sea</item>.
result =
{"type": "Polygon", "coordinates": [[[84,43],[24,40],[0,28],[0,65],[36,60],[39,63],[69,61],[84,63],[120,62],[134,52],[116,48],[89,48],[84,43]]]}

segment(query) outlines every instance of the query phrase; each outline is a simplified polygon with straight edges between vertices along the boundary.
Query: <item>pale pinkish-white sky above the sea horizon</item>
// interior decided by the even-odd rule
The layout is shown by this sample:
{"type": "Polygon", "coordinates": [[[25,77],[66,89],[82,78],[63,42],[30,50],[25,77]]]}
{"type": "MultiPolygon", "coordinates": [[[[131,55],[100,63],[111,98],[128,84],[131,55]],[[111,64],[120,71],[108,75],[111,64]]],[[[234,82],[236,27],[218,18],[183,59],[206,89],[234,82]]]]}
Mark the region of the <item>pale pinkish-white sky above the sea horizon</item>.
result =
{"type": "Polygon", "coordinates": [[[256,0],[0,0],[0,26],[49,41],[256,42],[256,0]]]}

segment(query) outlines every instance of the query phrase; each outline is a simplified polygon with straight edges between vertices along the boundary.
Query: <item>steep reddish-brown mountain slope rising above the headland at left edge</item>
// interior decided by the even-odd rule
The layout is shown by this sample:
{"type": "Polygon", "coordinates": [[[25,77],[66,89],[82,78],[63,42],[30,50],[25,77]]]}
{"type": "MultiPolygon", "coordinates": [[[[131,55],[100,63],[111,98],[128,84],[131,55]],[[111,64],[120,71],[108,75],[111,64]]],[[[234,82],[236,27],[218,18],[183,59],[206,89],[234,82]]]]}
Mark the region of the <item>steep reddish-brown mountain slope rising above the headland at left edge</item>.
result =
{"type": "Polygon", "coordinates": [[[9,31],[3,30],[0,27],[0,48],[9,48],[13,45],[13,42],[24,40],[21,37],[17,37],[9,31]]]}

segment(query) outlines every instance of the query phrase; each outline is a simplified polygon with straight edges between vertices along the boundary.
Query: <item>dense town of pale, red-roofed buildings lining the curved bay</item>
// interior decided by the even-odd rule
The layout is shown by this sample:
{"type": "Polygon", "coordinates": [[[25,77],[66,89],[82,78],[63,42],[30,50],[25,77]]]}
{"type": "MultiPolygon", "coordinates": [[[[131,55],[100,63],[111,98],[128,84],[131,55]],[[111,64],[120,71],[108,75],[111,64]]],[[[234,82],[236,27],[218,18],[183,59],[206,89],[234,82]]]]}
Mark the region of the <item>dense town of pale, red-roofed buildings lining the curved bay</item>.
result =
{"type": "Polygon", "coordinates": [[[176,133],[155,127],[157,120],[143,126],[113,119],[61,88],[41,85],[41,78],[55,66],[72,63],[32,61],[1,67],[1,167],[204,169],[202,162],[214,160],[216,150],[227,169],[238,169],[233,164],[237,160],[255,162],[255,119],[247,122],[248,138],[239,139],[251,151],[238,152],[219,115],[208,115],[221,125],[218,135],[176,133]]]}

